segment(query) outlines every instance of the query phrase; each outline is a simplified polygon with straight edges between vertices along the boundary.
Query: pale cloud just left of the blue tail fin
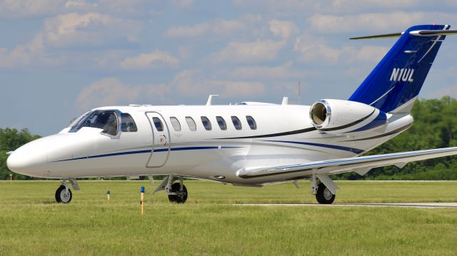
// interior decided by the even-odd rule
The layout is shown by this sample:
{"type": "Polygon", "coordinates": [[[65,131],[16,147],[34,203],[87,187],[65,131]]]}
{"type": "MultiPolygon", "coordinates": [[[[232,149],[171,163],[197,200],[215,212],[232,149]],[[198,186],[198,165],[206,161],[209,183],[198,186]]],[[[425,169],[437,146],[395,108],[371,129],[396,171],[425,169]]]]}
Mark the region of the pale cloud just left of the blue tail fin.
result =
{"type": "Polygon", "coordinates": [[[387,53],[388,48],[382,46],[342,46],[333,48],[326,41],[317,36],[303,34],[298,36],[293,47],[294,51],[301,53],[301,60],[305,62],[336,64],[361,61],[374,63],[380,61],[387,53]]]}

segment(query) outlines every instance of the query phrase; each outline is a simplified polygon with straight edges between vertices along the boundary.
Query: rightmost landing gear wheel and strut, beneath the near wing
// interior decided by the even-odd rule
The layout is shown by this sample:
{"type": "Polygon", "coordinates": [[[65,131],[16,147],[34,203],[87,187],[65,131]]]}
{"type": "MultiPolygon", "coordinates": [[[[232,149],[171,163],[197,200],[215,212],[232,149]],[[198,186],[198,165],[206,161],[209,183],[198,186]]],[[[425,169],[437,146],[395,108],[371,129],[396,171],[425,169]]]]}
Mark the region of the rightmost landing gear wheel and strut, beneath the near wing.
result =
{"type": "Polygon", "coordinates": [[[338,186],[327,175],[313,175],[311,178],[311,194],[316,195],[316,200],[320,204],[330,205],[333,203],[337,189],[338,186]]]}

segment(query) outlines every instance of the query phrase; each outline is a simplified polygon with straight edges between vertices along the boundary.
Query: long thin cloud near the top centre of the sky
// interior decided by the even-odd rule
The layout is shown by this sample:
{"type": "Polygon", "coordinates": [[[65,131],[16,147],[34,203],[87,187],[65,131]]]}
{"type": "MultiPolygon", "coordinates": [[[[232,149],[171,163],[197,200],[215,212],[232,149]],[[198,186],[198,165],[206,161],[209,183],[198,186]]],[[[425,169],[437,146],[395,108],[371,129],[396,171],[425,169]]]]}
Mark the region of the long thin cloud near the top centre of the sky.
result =
{"type": "Polygon", "coordinates": [[[172,26],[167,29],[165,36],[168,37],[198,37],[208,34],[226,36],[236,31],[244,29],[241,21],[215,19],[208,23],[194,24],[191,26],[172,26]]]}

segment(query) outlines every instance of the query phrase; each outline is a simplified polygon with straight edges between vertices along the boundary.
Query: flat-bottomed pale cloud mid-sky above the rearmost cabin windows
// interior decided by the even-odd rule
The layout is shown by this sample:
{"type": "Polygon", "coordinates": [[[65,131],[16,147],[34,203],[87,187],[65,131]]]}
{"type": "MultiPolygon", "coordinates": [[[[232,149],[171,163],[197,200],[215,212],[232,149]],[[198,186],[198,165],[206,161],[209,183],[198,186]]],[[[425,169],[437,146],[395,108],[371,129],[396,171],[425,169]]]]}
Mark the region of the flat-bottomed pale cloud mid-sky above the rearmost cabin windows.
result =
{"type": "Polygon", "coordinates": [[[272,61],[286,44],[285,41],[230,42],[226,48],[214,53],[211,58],[216,62],[255,63],[272,61]]]}

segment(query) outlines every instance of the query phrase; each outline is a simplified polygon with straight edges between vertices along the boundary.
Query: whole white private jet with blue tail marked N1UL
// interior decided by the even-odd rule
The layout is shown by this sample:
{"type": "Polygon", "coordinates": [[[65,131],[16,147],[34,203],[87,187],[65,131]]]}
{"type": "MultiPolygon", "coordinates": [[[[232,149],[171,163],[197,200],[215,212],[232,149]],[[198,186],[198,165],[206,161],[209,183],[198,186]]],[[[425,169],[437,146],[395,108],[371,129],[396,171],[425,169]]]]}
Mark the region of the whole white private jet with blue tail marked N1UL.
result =
{"type": "Polygon", "coordinates": [[[448,25],[412,26],[398,37],[347,100],[321,99],[311,106],[241,102],[221,106],[107,106],[76,118],[55,135],[9,155],[8,168],[55,178],[56,201],[69,203],[78,178],[166,175],[154,193],[184,203],[184,178],[236,186],[311,181],[321,204],[335,200],[331,175],[456,155],[438,148],[366,155],[413,125],[411,108],[446,35],[448,25]]]}

